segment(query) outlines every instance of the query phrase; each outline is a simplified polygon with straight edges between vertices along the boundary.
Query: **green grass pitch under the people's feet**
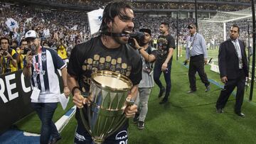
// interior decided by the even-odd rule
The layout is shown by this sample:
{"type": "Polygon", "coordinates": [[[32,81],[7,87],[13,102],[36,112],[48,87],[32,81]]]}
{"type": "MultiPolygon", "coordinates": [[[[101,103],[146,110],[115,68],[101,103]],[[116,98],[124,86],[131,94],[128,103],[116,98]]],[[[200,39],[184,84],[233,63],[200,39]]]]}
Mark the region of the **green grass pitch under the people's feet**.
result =
{"type": "MultiPolygon", "coordinates": [[[[129,123],[129,143],[132,144],[169,144],[169,143],[256,143],[256,90],[252,101],[248,101],[249,89],[245,94],[242,112],[245,118],[233,112],[234,96],[230,96],[224,113],[215,112],[215,102],[220,94],[220,87],[210,85],[210,92],[197,77],[198,90],[186,94],[188,87],[188,69],[181,62],[183,57],[173,61],[171,70],[171,96],[169,103],[160,105],[159,88],[154,87],[149,98],[149,112],[145,120],[145,129],[129,123]]],[[[219,75],[206,66],[209,79],[220,83],[219,75]]],[[[161,77],[164,82],[163,77],[161,77]]],[[[69,107],[72,106],[70,103],[69,107]]],[[[65,111],[58,107],[56,121],[65,111]]],[[[39,133],[40,121],[35,113],[16,123],[23,131],[39,133]]],[[[72,118],[63,129],[60,143],[73,143],[76,121],[72,118]]]]}

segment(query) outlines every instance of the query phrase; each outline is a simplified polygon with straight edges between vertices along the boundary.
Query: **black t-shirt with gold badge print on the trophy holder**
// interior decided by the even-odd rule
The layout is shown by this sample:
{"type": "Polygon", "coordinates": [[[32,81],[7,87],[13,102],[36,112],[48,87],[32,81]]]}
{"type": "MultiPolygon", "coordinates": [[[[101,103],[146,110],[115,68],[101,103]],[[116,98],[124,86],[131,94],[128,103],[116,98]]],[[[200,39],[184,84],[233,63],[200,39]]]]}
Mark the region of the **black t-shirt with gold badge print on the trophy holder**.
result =
{"type": "MultiPolygon", "coordinates": [[[[68,62],[68,74],[78,78],[82,92],[89,92],[88,79],[92,70],[110,70],[131,79],[132,84],[139,84],[142,79],[142,60],[139,52],[129,45],[109,49],[102,44],[100,36],[75,46],[68,62]]],[[[78,123],[80,114],[76,113],[78,123]]]]}

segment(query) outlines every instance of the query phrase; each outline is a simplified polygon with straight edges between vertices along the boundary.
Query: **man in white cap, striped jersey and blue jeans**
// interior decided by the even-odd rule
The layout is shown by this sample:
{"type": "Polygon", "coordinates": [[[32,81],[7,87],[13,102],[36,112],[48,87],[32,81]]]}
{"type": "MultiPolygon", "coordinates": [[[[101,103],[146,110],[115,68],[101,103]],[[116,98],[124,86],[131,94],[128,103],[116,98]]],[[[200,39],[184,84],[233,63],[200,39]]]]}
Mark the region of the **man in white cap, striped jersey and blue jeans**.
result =
{"type": "Polygon", "coordinates": [[[25,35],[28,43],[28,51],[23,67],[23,74],[31,79],[33,92],[31,104],[41,120],[40,143],[55,143],[60,140],[60,133],[52,121],[53,113],[57,108],[60,96],[60,84],[56,72],[61,71],[64,94],[70,94],[67,86],[67,69],[57,52],[40,45],[36,31],[28,31],[25,35]]]}

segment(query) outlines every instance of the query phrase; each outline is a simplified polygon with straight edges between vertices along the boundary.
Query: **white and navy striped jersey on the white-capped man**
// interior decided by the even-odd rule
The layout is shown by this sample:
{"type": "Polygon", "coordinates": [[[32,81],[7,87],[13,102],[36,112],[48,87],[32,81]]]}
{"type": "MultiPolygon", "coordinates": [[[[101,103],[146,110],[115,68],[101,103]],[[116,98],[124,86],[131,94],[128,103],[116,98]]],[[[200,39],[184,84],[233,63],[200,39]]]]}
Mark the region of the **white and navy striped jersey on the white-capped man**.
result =
{"type": "Polygon", "coordinates": [[[58,102],[60,84],[57,72],[65,67],[65,63],[55,50],[41,48],[38,55],[33,56],[31,84],[41,89],[38,101],[40,103],[58,102]]]}

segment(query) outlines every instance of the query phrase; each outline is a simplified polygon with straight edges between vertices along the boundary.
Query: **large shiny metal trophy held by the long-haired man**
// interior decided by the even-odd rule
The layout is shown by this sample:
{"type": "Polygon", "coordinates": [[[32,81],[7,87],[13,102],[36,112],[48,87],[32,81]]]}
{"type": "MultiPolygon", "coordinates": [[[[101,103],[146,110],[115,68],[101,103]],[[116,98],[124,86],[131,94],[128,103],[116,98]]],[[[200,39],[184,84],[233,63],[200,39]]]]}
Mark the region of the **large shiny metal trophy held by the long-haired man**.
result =
{"type": "Polygon", "coordinates": [[[131,80],[122,74],[106,70],[92,73],[88,101],[80,116],[94,143],[103,143],[124,124],[124,109],[134,102],[127,99],[131,89],[131,80]]]}

